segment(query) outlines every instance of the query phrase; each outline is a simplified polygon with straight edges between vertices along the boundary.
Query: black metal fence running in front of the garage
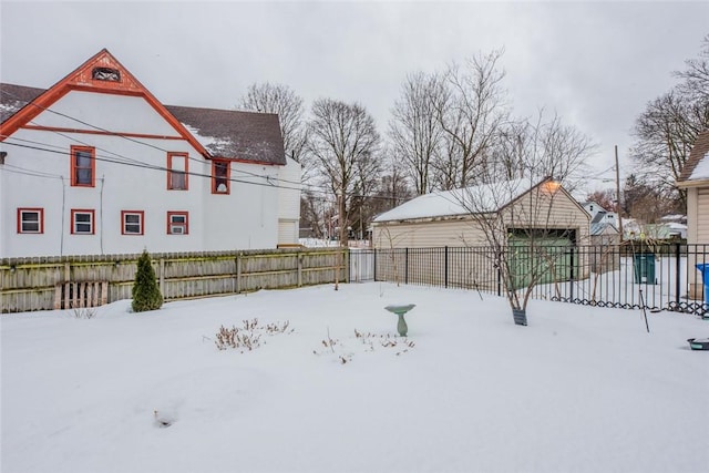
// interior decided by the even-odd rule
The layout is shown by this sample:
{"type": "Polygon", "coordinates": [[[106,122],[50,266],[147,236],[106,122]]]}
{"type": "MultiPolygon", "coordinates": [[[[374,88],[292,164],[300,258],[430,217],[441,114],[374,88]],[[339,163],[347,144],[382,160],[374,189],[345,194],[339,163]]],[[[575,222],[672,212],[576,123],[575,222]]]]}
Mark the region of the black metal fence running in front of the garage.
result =
{"type": "MultiPolygon", "coordinates": [[[[624,309],[709,317],[702,271],[708,245],[511,246],[511,282],[532,297],[624,309]]],[[[350,280],[466,288],[503,296],[500,255],[487,247],[350,251],[350,280]]],[[[707,276],[709,278],[709,276],[707,276]]]]}

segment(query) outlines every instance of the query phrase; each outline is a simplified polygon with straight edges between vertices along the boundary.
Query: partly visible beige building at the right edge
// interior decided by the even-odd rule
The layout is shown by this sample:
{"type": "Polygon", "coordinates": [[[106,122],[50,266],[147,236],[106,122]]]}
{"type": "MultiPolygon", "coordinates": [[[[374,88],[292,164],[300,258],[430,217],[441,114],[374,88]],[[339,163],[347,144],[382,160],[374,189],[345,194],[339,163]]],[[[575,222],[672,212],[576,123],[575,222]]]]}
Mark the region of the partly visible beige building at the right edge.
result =
{"type": "MultiPolygon", "coordinates": [[[[709,245],[709,130],[697,136],[677,187],[687,192],[687,243],[709,245]]],[[[690,258],[689,264],[693,263],[690,258]]],[[[689,297],[700,299],[701,294],[699,271],[689,271],[689,297]]]]}

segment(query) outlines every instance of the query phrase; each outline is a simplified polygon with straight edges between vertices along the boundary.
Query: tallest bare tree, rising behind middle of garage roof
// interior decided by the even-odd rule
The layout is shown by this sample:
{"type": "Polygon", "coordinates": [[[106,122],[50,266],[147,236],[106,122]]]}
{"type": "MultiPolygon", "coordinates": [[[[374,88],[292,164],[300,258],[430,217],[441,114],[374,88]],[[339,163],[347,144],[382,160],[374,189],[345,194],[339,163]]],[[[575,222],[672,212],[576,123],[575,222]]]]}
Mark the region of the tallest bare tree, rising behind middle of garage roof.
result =
{"type": "Polygon", "coordinates": [[[444,141],[433,164],[440,188],[479,182],[482,162],[507,121],[506,93],[501,86],[505,74],[497,65],[502,54],[502,50],[477,54],[463,66],[452,64],[443,74],[445,88],[433,97],[444,141]]]}

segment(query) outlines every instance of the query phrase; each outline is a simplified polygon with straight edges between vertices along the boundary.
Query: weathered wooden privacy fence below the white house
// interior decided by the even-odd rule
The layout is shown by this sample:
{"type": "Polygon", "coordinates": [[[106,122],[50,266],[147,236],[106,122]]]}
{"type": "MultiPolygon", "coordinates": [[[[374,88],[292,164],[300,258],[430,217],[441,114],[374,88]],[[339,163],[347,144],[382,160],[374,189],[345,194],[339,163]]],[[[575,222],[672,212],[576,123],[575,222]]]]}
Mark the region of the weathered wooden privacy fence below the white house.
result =
{"type": "MultiPolygon", "coordinates": [[[[138,257],[0,259],[0,311],[92,307],[130,299],[138,257]],[[100,294],[94,296],[95,288],[100,294]]],[[[327,284],[336,276],[346,281],[348,277],[347,248],[172,253],[152,254],[151,258],[165,300],[327,284]]]]}

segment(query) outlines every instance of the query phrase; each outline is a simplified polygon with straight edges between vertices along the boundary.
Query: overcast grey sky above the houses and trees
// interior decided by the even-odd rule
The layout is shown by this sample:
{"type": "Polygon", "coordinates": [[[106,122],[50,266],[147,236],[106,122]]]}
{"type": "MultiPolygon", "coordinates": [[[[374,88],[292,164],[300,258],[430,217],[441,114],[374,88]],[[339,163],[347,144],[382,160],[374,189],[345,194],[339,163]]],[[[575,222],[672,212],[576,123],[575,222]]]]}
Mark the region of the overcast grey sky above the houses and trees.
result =
{"type": "Polygon", "coordinates": [[[165,104],[284,83],[308,106],[360,102],[382,134],[407,73],[504,48],[515,113],[558,113],[598,143],[598,172],[618,145],[625,175],[634,120],[698,55],[709,2],[0,0],[0,31],[2,82],[49,88],[107,48],[165,104]]]}

